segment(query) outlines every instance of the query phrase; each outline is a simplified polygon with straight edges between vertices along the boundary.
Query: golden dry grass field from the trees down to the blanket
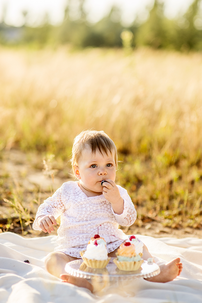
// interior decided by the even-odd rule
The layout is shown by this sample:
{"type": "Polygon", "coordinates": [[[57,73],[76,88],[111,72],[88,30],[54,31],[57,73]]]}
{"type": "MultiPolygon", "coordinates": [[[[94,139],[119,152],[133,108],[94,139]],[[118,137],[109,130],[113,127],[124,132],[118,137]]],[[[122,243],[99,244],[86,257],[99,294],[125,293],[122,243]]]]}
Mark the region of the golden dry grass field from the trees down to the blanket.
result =
{"type": "Polygon", "coordinates": [[[0,229],[31,233],[38,205],[70,178],[73,138],[95,128],[114,140],[117,184],[138,212],[125,232],[200,235],[201,96],[200,53],[0,48],[0,229]]]}

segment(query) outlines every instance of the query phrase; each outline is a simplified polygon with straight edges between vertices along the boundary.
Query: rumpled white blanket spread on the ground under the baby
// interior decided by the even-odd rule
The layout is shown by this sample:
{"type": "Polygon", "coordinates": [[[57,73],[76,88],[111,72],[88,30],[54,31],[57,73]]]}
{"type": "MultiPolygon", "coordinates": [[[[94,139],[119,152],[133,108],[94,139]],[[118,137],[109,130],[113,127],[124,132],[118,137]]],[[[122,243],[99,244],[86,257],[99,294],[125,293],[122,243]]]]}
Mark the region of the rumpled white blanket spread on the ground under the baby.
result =
{"type": "Polygon", "coordinates": [[[135,296],[108,293],[98,298],[90,291],[61,282],[44,269],[44,258],[54,250],[56,236],[23,238],[0,234],[0,303],[202,303],[202,239],[152,238],[138,235],[159,264],[180,257],[181,276],[168,283],[143,279],[122,291],[135,296]],[[24,263],[28,259],[30,264],[24,263]]]}

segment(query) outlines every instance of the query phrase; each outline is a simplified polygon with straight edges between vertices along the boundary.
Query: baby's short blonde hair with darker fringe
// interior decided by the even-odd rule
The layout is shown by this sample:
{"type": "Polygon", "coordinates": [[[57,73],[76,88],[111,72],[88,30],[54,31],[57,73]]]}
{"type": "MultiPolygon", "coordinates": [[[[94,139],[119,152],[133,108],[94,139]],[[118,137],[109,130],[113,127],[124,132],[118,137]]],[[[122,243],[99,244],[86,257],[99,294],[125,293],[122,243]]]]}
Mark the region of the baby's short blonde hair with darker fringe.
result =
{"type": "Polygon", "coordinates": [[[74,138],[73,147],[72,147],[72,158],[70,160],[72,164],[72,168],[74,165],[78,165],[78,161],[79,158],[81,157],[81,153],[83,149],[86,148],[87,146],[90,146],[92,150],[92,154],[95,153],[96,150],[99,150],[102,155],[103,153],[108,155],[109,152],[112,154],[112,151],[114,150],[115,153],[114,160],[117,168],[118,161],[117,161],[116,145],[104,131],[96,131],[96,130],[83,131],[74,138]]]}

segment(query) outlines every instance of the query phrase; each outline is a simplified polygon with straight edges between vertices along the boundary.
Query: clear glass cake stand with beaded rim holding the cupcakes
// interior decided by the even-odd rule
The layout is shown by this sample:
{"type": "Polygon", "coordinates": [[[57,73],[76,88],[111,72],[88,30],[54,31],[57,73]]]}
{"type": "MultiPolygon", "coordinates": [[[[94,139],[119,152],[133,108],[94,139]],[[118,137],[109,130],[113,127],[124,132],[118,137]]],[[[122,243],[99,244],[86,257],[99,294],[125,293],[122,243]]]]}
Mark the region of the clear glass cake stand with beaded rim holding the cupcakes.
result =
{"type": "Polygon", "coordinates": [[[131,293],[131,288],[134,288],[132,281],[154,277],[160,273],[159,266],[148,261],[144,261],[137,271],[121,271],[116,267],[113,259],[111,258],[109,264],[103,269],[89,268],[82,259],[79,259],[67,263],[65,271],[71,276],[86,278],[90,281],[94,287],[94,293],[98,296],[109,292],[126,296],[134,295],[134,292],[131,293]],[[130,288],[129,285],[131,285],[130,288]],[[126,290],[127,287],[130,290],[126,290]]]}

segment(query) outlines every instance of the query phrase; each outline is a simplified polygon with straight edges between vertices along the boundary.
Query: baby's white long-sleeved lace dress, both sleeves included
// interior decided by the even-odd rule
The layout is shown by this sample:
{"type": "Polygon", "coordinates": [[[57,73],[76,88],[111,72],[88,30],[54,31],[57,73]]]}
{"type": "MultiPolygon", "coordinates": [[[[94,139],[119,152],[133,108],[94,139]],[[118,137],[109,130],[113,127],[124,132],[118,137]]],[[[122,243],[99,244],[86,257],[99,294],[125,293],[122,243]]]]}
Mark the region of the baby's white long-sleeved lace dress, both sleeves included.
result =
{"type": "Polygon", "coordinates": [[[86,249],[90,238],[97,234],[98,227],[99,235],[106,241],[108,253],[114,251],[126,238],[118,229],[119,224],[130,226],[136,219],[136,211],[126,189],[117,186],[124,200],[121,215],[114,213],[104,195],[87,197],[77,181],[68,181],[39,206],[33,229],[41,230],[37,224],[37,218],[41,215],[53,215],[55,219],[60,216],[58,247],[54,251],[81,258],[80,250],[86,249]]]}

